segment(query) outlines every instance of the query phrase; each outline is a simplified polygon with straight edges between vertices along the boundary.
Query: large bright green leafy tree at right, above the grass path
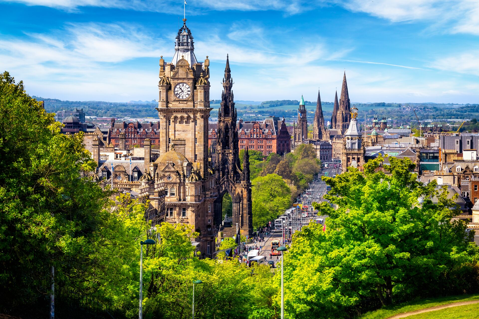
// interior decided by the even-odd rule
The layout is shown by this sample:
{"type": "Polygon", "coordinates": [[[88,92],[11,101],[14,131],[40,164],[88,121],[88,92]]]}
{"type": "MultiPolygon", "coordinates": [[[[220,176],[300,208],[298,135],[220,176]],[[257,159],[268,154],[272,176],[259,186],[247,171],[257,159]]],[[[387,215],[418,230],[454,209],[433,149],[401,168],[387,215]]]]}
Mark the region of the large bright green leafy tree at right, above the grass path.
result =
{"type": "Polygon", "coordinates": [[[332,188],[325,198],[338,209],[313,204],[330,216],[326,231],[310,224],[293,238],[285,257],[292,318],[341,318],[345,307],[365,298],[389,305],[395,297],[444,291],[454,286],[445,278],[475,262],[478,248],[465,235],[465,223],[451,221],[458,210],[446,190],[417,182],[409,159],[390,158],[388,175],[376,172],[382,161],[366,163],[364,174],[350,168],[323,177],[332,188]]]}

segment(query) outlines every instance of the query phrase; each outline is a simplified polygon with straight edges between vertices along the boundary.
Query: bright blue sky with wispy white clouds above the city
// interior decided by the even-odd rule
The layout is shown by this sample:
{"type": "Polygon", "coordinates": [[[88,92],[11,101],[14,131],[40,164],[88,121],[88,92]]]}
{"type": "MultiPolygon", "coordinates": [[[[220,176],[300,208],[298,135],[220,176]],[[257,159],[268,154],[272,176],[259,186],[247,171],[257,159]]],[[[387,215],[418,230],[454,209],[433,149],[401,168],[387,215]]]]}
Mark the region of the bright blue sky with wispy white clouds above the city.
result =
{"type": "MultiPolygon", "coordinates": [[[[187,0],[199,61],[237,100],[479,102],[477,0],[187,0]],[[339,92],[338,92],[339,95],[339,92]]],[[[0,69],[31,95],[157,98],[183,0],[0,0],[0,69]]]]}

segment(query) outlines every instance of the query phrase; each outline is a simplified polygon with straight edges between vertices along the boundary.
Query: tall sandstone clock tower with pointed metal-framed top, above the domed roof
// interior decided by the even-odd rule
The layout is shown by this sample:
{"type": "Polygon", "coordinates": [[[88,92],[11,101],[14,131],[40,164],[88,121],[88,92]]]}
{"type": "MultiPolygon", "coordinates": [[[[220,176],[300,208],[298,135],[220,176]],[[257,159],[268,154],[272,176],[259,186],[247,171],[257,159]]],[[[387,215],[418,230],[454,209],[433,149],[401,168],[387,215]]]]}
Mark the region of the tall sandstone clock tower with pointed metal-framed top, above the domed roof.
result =
{"type": "MultiPolygon", "coordinates": [[[[208,174],[209,60],[200,63],[194,55],[194,42],[183,19],[175,41],[171,63],[160,59],[158,114],[160,153],[176,145],[202,177],[208,174]]],[[[175,146],[174,146],[175,147],[175,146]]]]}

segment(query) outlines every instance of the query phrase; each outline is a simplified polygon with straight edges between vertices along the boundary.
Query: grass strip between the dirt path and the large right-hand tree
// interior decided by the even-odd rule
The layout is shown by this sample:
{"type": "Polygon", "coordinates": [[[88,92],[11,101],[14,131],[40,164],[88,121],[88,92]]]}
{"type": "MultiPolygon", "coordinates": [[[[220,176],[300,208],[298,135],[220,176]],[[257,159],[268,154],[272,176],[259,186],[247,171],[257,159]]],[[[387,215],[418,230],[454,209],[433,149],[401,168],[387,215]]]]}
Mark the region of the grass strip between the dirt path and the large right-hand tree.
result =
{"type": "Polygon", "coordinates": [[[385,319],[403,312],[414,311],[414,310],[424,309],[424,308],[429,308],[434,306],[441,306],[445,304],[450,304],[452,302],[478,300],[478,299],[479,299],[479,294],[421,299],[416,301],[405,302],[398,305],[383,307],[376,311],[366,312],[364,315],[359,316],[358,319],[385,319]]]}

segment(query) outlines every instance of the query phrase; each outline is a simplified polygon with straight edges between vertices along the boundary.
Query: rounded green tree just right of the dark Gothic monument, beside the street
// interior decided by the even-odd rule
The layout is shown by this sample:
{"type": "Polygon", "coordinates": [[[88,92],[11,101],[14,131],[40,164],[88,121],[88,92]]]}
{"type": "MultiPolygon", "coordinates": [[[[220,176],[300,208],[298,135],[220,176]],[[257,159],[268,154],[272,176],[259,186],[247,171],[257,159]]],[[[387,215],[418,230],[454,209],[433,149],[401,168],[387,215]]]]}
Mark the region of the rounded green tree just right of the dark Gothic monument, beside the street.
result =
{"type": "Polygon", "coordinates": [[[291,189],[276,174],[257,177],[252,184],[253,227],[276,219],[291,205],[291,189]]]}

